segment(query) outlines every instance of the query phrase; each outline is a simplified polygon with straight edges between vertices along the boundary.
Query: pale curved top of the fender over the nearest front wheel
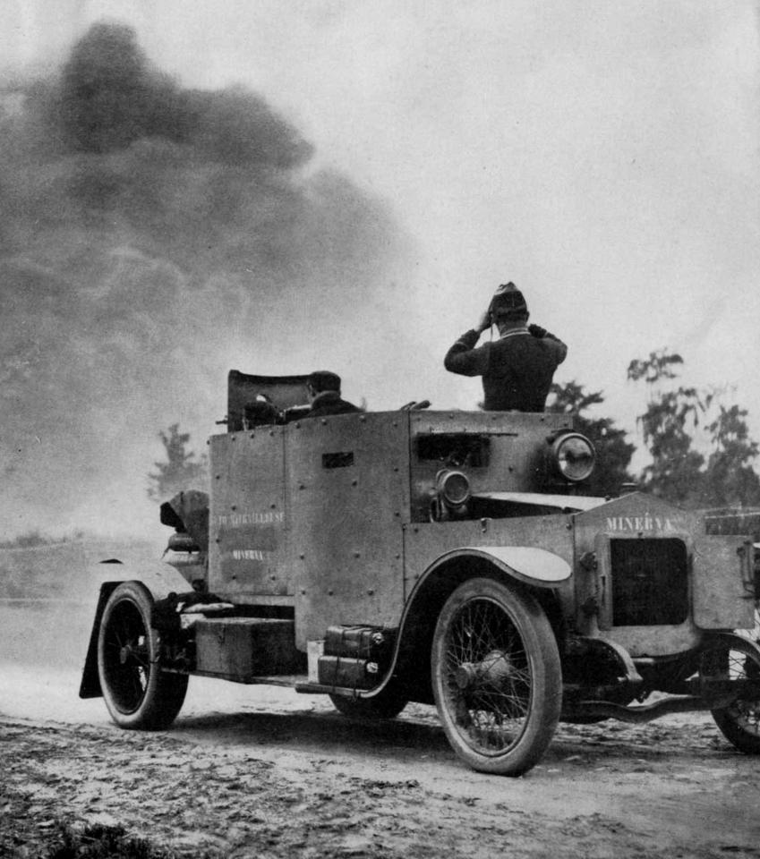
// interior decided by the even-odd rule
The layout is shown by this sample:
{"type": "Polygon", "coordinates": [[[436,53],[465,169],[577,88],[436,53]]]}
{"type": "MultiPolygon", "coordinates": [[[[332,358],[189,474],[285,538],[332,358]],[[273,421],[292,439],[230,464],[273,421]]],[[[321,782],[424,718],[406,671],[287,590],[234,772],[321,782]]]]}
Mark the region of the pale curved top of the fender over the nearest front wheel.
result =
{"type": "Polygon", "coordinates": [[[490,561],[518,582],[538,588],[553,588],[561,582],[567,582],[572,572],[564,558],[535,546],[465,546],[436,558],[425,570],[423,580],[459,557],[478,557],[490,561]]]}

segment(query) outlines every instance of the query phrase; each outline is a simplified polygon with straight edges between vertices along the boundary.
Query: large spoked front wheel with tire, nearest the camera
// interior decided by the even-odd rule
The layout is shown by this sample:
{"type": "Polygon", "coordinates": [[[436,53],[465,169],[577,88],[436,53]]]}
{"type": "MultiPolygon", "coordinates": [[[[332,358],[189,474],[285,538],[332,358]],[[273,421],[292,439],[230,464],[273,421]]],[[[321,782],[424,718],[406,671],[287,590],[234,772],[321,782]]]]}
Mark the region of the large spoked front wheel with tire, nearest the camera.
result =
{"type": "Polygon", "coordinates": [[[559,721],[562,670],[543,609],[517,586],[470,579],[448,598],[431,654],[440,720],[474,770],[519,776],[541,760],[559,721]]]}

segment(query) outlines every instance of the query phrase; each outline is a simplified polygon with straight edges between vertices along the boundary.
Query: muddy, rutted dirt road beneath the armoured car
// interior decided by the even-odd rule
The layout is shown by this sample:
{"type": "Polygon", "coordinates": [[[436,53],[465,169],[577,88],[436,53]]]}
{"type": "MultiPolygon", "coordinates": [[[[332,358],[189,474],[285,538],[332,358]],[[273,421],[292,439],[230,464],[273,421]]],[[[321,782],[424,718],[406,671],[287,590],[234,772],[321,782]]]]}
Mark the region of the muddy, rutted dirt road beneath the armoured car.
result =
{"type": "Polygon", "coordinates": [[[322,698],[192,678],[167,733],[124,732],[73,668],[0,666],[0,855],[57,819],[225,856],[760,856],[760,761],[709,717],[561,726],[524,778],[466,770],[435,713],[356,725],[322,698]]]}

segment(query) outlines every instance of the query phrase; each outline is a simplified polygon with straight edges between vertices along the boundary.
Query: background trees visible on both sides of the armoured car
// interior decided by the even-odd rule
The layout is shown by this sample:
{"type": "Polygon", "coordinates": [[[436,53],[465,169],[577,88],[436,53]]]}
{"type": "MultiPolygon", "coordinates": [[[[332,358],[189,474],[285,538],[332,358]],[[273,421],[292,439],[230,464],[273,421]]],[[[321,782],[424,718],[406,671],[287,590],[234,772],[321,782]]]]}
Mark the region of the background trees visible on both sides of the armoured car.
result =
{"type": "MultiPolygon", "coordinates": [[[[575,414],[575,428],[596,447],[597,466],[585,490],[618,496],[634,486],[689,509],[760,506],[757,442],[747,427],[747,410],[730,404],[730,391],[680,384],[683,359],[661,349],[631,361],[628,380],[644,387],[646,405],[637,417],[649,463],[631,472],[636,445],[609,417],[595,417],[602,391],[576,381],[554,384],[547,411],[575,414]]],[[[158,433],[163,461],[148,475],[148,495],[171,498],[186,489],[206,489],[208,458],[190,447],[190,434],[172,424],[158,433]]]]}

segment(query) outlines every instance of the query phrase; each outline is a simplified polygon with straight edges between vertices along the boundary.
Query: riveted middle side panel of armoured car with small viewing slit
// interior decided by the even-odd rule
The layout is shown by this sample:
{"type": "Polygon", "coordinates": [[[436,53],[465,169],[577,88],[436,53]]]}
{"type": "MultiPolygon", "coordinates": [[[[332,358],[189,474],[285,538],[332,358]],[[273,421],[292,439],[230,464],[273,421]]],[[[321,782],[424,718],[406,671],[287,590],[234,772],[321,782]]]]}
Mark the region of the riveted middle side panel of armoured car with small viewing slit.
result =
{"type": "Polygon", "coordinates": [[[286,472],[298,646],[322,638],[329,625],[397,625],[408,416],[342,414],[290,424],[286,472]]]}

